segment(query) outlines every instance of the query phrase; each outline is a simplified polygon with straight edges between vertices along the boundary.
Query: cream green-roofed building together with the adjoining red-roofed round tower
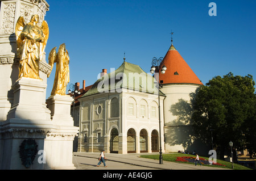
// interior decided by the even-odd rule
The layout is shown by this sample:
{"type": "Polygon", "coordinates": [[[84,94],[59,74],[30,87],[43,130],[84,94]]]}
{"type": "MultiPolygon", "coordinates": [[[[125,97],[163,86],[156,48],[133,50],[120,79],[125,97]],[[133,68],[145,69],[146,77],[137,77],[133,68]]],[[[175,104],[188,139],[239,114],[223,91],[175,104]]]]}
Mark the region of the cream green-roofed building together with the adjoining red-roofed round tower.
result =
{"type": "MultiPolygon", "coordinates": [[[[203,83],[173,44],[159,66],[161,140],[163,152],[208,153],[194,140],[189,124],[190,94],[203,83]],[[176,109],[176,110],[175,110],[176,109]],[[179,115],[183,109],[183,115],[179,115]],[[185,113],[187,115],[185,115],[185,113]]],[[[113,73],[102,70],[101,78],[78,99],[80,136],[77,151],[152,153],[159,151],[158,82],[138,65],[123,62],[113,73]]],[[[78,110],[77,110],[78,111],[78,110]]],[[[207,148],[208,149],[208,148],[207,148]]]]}

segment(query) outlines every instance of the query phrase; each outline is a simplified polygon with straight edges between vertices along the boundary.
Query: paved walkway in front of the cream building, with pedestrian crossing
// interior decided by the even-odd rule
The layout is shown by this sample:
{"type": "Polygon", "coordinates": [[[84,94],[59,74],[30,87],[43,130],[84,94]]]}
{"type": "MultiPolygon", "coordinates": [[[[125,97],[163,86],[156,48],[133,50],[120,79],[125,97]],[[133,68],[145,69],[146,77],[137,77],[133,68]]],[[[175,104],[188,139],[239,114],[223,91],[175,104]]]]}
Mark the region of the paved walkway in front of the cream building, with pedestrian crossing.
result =
{"type": "Polygon", "coordinates": [[[159,164],[159,160],[141,158],[139,156],[142,154],[135,153],[105,153],[107,167],[104,167],[103,163],[100,167],[97,167],[99,155],[100,153],[74,152],[73,164],[76,170],[230,170],[168,161],[163,161],[163,164],[159,164]]]}

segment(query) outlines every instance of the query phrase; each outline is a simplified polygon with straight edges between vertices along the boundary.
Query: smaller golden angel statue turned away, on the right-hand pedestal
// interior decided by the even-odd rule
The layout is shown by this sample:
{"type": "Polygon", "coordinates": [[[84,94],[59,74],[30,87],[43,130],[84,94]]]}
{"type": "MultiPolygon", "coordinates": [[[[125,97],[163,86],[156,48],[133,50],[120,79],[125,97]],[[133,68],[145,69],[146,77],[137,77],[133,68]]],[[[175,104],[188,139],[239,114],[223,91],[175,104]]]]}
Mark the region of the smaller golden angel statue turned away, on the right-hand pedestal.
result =
{"type": "Polygon", "coordinates": [[[56,62],[56,72],[55,79],[52,87],[52,95],[65,95],[66,87],[69,80],[69,55],[68,50],[66,50],[66,45],[63,43],[60,45],[58,53],[56,53],[56,48],[52,48],[49,53],[49,65],[53,68],[53,64],[56,62]]]}

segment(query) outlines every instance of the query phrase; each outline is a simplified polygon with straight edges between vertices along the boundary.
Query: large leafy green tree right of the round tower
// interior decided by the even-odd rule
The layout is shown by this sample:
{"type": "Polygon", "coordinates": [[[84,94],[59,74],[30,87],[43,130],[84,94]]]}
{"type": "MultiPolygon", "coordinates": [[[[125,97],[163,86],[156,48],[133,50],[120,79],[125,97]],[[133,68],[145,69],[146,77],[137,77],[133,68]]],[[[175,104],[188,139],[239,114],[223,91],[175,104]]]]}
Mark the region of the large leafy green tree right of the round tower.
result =
{"type": "Polygon", "coordinates": [[[210,145],[213,130],[214,147],[221,156],[229,148],[230,140],[241,150],[247,148],[251,136],[255,140],[255,134],[247,134],[255,129],[256,123],[254,85],[251,75],[229,73],[214,77],[191,94],[191,124],[196,136],[210,145]]]}

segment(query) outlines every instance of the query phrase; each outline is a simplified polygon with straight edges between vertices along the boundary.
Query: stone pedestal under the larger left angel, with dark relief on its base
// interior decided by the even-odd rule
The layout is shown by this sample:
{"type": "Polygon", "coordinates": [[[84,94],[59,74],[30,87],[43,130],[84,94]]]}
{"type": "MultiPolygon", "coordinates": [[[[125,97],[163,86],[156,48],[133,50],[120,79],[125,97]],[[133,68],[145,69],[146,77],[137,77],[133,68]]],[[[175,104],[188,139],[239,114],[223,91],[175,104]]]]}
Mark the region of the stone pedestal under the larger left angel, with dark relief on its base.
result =
{"type": "MultiPolygon", "coordinates": [[[[52,121],[50,111],[43,102],[46,85],[42,80],[20,78],[12,86],[14,92],[13,107],[2,122],[2,145],[0,158],[1,169],[44,169],[46,165],[38,163],[37,152],[31,159],[30,155],[21,151],[24,140],[33,140],[37,150],[44,150],[44,139],[51,132],[52,121]],[[22,154],[31,163],[25,167],[22,154]]],[[[33,145],[30,145],[33,146],[33,145]]]]}

